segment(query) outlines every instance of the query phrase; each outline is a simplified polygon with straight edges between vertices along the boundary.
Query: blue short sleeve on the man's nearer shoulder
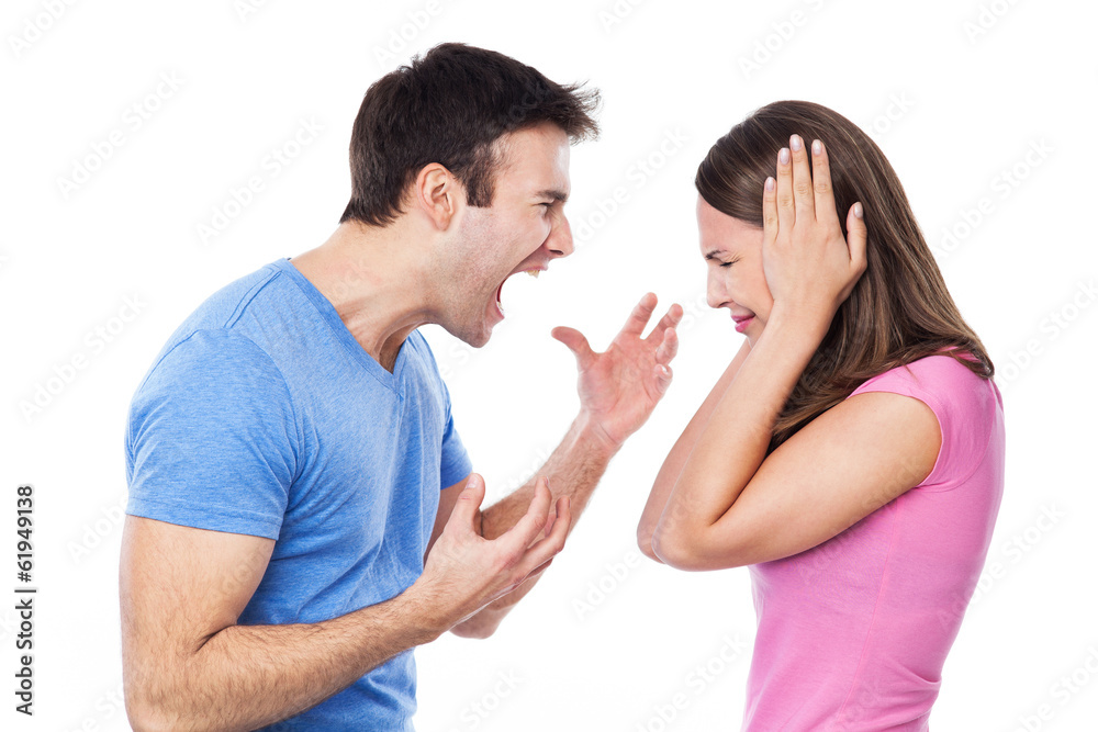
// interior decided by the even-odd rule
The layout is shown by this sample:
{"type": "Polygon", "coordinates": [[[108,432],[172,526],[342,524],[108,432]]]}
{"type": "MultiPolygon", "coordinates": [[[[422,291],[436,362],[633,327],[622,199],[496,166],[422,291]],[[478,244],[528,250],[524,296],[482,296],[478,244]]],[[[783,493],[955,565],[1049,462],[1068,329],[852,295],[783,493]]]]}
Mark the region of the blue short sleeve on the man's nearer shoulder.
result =
{"type": "Polygon", "coordinates": [[[270,357],[246,337],[198,330],[163,356],[130,405],[126,513],[277,539],[296,443],[270,357]]]}

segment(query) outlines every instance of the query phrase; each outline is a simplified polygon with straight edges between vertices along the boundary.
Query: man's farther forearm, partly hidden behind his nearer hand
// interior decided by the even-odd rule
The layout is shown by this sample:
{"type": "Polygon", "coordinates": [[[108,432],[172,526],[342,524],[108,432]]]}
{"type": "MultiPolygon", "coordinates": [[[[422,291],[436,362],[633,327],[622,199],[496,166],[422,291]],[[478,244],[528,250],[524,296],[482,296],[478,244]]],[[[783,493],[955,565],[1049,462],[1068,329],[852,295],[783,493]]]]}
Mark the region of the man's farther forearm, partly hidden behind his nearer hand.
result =
{"type": "MultiPolygon", "coordinates": [[[[484,509],[481,514],[482,536],[485,539],[495,539],[515,526],[530,505],[534,486],[542,475],[549,477],[549,489],[552,492],[553,502],[560,496],[569,497],[572,513],[572,525],[569,528],[571,532],[575,527],[575,520],[583,513],[591,494],[619,448],[620,446],[612,444],[605,436],[594,429],[586,416],[581,414],[572,421],[564,439],[549,455],[546,464],[529,482],[484,509]]],[[[457,626],[453,632],[477,638],[491,634],[511,608],[530,592],[540,577],[540,574],[530,577],[457,626]]]]}

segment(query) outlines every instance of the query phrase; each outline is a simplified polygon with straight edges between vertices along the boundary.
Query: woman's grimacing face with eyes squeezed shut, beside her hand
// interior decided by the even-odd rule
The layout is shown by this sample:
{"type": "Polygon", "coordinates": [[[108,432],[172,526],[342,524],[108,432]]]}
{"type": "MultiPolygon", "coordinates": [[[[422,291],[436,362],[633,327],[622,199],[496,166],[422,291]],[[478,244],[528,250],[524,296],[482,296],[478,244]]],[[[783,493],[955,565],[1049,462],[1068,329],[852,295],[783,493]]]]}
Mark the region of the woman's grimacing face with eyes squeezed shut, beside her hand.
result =
{"type": "Polygon", "coordinates": [[[753,346],[774,306],[762,269],[763,232],[697,196],[697,230],[709,307],[727,307],[753,346]]]}

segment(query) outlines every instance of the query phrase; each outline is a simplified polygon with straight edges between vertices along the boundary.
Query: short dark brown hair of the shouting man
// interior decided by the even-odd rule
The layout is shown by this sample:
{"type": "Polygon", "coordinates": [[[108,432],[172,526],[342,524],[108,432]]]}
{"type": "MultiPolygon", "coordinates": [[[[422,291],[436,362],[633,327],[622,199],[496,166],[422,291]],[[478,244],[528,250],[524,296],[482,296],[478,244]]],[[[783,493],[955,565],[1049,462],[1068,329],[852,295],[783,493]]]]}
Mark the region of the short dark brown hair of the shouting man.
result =
{"type": "Polygon", "coordinates": [[[366,92],[350,140],[351,196],[339,223],[383,226],[403,213],[418,172],[438,162],[473,206],[490,206],[502,135],[551,122],[572,143],[594,138],[597,89],[559,85],[509,56],[444,43],[366,92]]]}

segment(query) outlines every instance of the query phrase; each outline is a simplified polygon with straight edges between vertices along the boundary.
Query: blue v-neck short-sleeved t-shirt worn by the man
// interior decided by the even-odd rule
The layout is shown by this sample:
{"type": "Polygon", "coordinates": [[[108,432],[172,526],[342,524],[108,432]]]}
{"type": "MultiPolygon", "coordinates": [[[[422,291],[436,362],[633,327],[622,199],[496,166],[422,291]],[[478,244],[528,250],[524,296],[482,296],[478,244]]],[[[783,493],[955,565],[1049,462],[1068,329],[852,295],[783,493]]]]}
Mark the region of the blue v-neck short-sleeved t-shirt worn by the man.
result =
{"type": "MultiPolygon", "coordinates": [[[[283,259],[206,300],[138,386],[126,513],[274,539],[239,623],[310,623],[412,585],[470,470],[423,336],[390,373],[283,259]]],[[[276,727],[413,730],[415,682],[407,650],[276,727]]]]}

